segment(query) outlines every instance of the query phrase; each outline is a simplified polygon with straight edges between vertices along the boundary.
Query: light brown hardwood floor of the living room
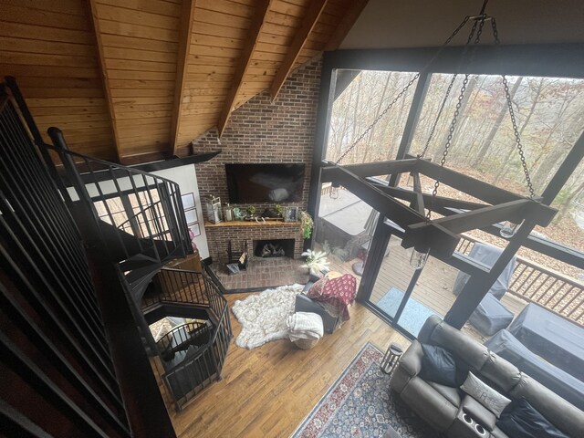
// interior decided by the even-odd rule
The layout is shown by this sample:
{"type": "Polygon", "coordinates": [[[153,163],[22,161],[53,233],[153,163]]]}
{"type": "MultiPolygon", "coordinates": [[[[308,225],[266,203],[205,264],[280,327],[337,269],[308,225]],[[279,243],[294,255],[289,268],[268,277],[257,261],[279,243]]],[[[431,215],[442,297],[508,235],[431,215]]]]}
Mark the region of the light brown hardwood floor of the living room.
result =
{"type": "MultiPolygon", "coordinates": [[[[248,294],[227,296],[230,307],[248,294]]],[[[381,351],[390,342],[408,347],[400,333],[356,303],[351,318],[313,349],[297,349],[287,339],[258,349],[240,349],[241,330],[232,314],[235,338],[223,380],[199,394],[183,412],[169,409],[180,438],[288,437],[328,388],[370,341],[381,351]]]]}

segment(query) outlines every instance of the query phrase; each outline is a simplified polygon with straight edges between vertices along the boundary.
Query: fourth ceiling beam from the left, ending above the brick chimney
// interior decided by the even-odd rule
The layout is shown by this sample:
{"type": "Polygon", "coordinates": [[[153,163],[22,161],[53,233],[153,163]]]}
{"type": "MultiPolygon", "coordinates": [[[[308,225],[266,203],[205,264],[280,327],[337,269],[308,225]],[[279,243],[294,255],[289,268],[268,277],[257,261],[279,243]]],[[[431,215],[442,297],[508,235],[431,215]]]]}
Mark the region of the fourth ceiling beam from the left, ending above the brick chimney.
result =
{"type": "Polygon", "coordinates": [[[284,61],[282,61],[282,65],[278,68],[276,77],[274,77],[274,81],[272,82],[272,87],[270,88],[272,101],[276,99],[290,71],[294,68],[297,58],[307,42],[308,35],[310,35],[310,32],[312,32],[312,29],[317,24],[318,17],[322,14],[325,5],[327,5],[327,0],[312,0],[310,2],[307,13],[302,19],[302,24],[298,28],[291,46],[288,47],[286,57],[284,57],[284,61]]]}

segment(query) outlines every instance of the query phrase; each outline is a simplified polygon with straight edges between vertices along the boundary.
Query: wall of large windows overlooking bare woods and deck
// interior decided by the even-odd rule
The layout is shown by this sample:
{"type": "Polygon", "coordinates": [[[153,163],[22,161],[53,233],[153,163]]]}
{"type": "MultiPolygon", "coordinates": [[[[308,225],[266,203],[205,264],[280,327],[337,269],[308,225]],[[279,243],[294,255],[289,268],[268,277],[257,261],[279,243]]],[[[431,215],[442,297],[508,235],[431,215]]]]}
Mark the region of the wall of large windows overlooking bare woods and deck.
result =
{"type": "MultiPolygon", "coordinates": [[[[560,77],[564,72],[557,64],[542,67],[538,63],[535,68],[534,63],[526,68],[518,66],[511,57],[507,63],[499,58],[495,62],[488,59],[479,62],[491,73],[505,70],[504,66],[514,72],[506,76],[506,81],[515,131],[500,75],[469,74],[464,81],[464,74],[442,72],[460,65],[452,62],[452,66],[442,63],[437,68],[440,73],[422,73],[418,80],[412,81],[415,72],[421,71],[422,57],[417,54],[409,57],[406,51],[397,50],[388,56],[396,57],[395,64],[402,71],[358,70],[339,55],[338,64],[351,67],[337,70],[338,82],[331,99],[334,103],[329,109],[327,136],[322,145],[322,156],[329,162],[340,160],[340,165],[380,162],[402,158],[399,153],[413,156],[423,153],[424,158],[440,162],[444,146],[449,143],[446,167],[510,192],[528,195],[523,162],[516,149],[517,132],[534,192],[540,195],[584,130],[581,116],[584,79],[560,77]],[[522,70],[529,74],[519,76],[517,72],[522,70]],[[536,70],[541,76],[534,74],[536,70]],[[463,85],[465,93],[461,96],[463,85]],[[449,88],[451,91],[446,96],[449,88]],[[385,111],[389,106],[391,109],[385,111]],[[454,112],[457,113],[455,124],[454,112]],[[374,120],[378,122],[372,124],[374,120]]],[[[564,64],[567,62],[565,59],[564,64]]],[[[377,66],[383,61],[374,59],[370,63],[377,66]]],[[[387,65],[391,66],[391,62],[387,65]]],[[[566,73],[582,76],[570,68],[566,73]]],[[[381,181],[390,181],[387,175],[377,176],[381,181]]],[[[413,185],[407,174],[391,183],[409,189],[413,185]]],[[[433,179],[421,176],[421,184],[422,192],[433,192],[433,179]]],[[[384,252],[375,253],[381,256],[381,261],[360,277],[360,297],[369,297],[372,306],[400,325],[409,318],[403,313],[406,302],[446,316],[457,299],[454,283],[464,276],[459,271],[464,263],[458,259],[453,262],[430,257],[422,272],[416,273],[409,266],[409,251],[400,245],[400,232],[378,226],[370,234],[368,218],[375,212],[358,194],[332,187],[330,183],[319,187],[319,193],[317,240],[335,263],[339,261],[338,267],[362,274],[355,266],[360,260],[367,260],[368,248],[363,245],[359,251],[355,244],[378,238],[387,242],[384,252]],[[345,238],[339,238],[343,234],[345,238]],[[393,307],[388,307],[389,302],[393,307]],[[396,315],[398,302],[401,309],[396,315]]],[[[440,185],[438,195],[478,201],[446,184],[440,185]]],[[[524,241],[524,246],[517,251],[516,265],[509,271],[508,292],[502,302],[516,314],[529,302],[536,302],[584,324],[584,167],[581,164],[572,172],[553,206],[560,211],[555,221],[546,228],[535,229],[529,238],[532,240],[524,241]],[[543,243],[535,245],[533,239],[543,243]],[[552,246],[553,250],[546,249],[552,246]]],[[[438,216],[434,212],[432,217],[438,216]]],[[[498,235],[496,227],[500,225],[465,233],[457,257],[472,258],[476,244],[504,249],[509,241],[498,235]]],[[[473,330],[468,324],[466,328],[473,330]]],[[[406,328],[406,331],[417,334],[415,329],[406,328]]]]}

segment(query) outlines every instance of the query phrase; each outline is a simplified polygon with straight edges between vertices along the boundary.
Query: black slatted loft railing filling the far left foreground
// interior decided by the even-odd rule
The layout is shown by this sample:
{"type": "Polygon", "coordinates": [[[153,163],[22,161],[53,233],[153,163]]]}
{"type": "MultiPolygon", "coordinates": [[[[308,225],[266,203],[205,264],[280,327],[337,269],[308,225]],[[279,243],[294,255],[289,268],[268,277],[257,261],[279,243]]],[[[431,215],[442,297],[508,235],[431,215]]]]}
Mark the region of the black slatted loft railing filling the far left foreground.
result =
{"type": "Polygon", "coordinates": [[[0,303],[8,434],[130,436],[78,227],[2,85],[0,303]]]}

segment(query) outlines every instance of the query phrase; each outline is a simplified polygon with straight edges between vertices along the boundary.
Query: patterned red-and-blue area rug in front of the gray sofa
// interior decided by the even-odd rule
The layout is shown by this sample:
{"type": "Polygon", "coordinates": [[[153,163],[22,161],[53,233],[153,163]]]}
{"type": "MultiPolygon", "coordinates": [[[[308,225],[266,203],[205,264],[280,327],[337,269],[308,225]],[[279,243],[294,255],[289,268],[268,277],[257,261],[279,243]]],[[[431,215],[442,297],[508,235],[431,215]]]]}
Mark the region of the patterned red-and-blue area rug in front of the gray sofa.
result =
{"type": "Polygon", "coordinates": [[[368,342],[292,438],[382,437],[390,426],[402,438],[438,438],[390,390],[390,377],[380,370],[382,358],[368,342]]]}

